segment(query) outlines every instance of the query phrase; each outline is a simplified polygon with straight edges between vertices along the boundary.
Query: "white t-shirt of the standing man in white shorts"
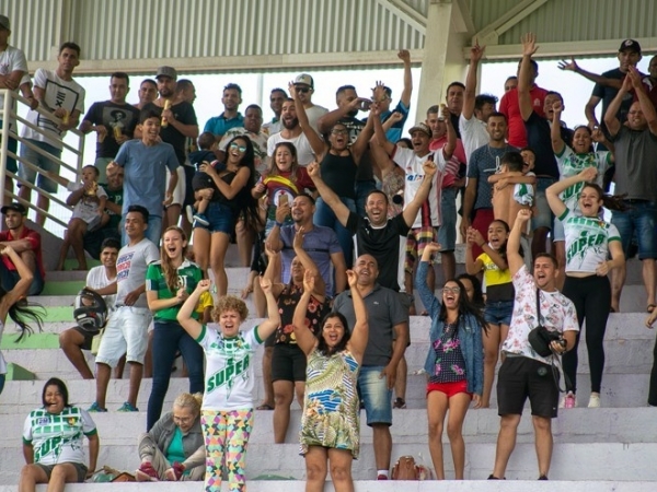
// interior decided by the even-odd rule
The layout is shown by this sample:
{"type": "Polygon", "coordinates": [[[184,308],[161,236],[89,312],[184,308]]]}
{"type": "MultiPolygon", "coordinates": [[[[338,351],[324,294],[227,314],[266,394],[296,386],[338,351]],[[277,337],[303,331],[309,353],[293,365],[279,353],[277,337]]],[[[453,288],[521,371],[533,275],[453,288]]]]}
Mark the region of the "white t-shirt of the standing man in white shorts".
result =
{"type": "MultiPolygon", "coordinates": [[[[135,246],[124,246],[116,260],[116,305],[123,305],[126,295],[146,284],[146,270],[160,259],[158,247],[146,237],[135,246]]],[[[132,304],[132,307],[148,307],[146,293],[132,304]]]]}

